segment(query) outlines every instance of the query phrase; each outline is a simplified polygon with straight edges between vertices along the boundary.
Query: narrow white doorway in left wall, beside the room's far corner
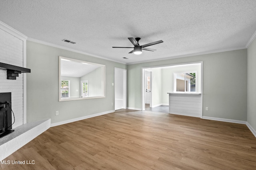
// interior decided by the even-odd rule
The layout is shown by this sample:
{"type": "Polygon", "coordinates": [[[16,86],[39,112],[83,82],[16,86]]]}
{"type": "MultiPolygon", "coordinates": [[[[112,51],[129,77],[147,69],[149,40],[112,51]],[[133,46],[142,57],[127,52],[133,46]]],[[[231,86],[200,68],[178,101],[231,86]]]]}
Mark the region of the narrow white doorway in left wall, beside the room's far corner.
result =
{"type": "Polygon", "coordinates": [[[126,109],[126,69],[114,70],[115,110],[126,109]]]}

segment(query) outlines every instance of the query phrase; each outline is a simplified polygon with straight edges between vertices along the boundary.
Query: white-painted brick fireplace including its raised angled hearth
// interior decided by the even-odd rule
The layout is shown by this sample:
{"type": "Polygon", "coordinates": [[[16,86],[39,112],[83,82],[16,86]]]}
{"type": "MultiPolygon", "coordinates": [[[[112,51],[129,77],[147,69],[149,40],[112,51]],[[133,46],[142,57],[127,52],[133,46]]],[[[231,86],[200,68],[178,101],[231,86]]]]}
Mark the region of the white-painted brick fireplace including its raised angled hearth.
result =
{"type": "MultiPolygon", "coordinates": [[[[26,39],[25,35],[0,21],[0,63],[26,68],[26,39]]],[[[26,74],[21,73],[16,80],[8,80],[6,70],[0,69],[0,93],[12,93],[15,115],[14,132],[0,138],[0,160],[50,127],[50,119],[26,123],[26,74]]]]}

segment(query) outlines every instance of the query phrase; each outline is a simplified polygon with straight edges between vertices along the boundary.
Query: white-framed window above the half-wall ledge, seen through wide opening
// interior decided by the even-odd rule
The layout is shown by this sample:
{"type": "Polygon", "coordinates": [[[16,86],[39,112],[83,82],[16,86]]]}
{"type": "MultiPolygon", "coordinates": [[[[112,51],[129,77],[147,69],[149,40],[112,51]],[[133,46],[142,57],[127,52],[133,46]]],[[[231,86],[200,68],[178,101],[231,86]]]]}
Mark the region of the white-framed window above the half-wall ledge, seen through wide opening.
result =
{"type": "Polygon", "coordinates": [[[174,92],[196,92],[196,72],[174,73],[174,92]]]}

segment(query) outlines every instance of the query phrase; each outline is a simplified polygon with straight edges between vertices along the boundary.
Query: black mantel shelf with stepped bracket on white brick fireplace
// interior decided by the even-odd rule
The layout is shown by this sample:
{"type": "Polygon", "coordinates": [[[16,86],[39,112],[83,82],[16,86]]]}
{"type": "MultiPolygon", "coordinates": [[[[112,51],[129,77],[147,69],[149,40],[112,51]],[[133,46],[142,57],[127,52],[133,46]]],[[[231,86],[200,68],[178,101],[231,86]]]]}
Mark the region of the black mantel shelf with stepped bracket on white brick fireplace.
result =
{"type": "Polygon", "coordinates": [[[0,63],[0,69],[7,70],[7,79],[16,80],[16,77],[19,76],[22,72],[30,72],[29,68],[14,66],[11,64],[0,63]]]}

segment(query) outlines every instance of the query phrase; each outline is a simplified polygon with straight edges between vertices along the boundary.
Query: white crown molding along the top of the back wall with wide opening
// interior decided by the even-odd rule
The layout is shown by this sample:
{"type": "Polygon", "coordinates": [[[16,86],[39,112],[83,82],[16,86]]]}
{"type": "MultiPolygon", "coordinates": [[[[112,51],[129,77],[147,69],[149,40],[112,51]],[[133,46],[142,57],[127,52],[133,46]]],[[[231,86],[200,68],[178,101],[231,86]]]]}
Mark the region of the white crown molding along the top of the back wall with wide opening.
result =
{"type": "Polygon", "coordinates": [[[192,56],[197,56],[197,55],[206,55],[206,54],[213,54],[213,53],[222,53],[222,52],[234,51],[234,50],[241,50],[241,49],[246,49],[246,47],[231,48],[231,49],[222,49],[222,50],[215,50],[215,51],[207,51],[207,52],[193,53],[193,54],[188,54],[188,55],[176,55],[176,56],[166,57],[166,58],[161,58],[161,59],[148,60],[148,61],[141,61],[141,62],[133,62],[133,63],[126,63],[126,64],[127,64],[127,65],[130,65],[130,64],[148,63],[148,62],[154,62],[154,61],[178,59],[178,58],[182,58],[182,57],[192,57],[192,56]]]}

